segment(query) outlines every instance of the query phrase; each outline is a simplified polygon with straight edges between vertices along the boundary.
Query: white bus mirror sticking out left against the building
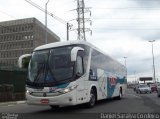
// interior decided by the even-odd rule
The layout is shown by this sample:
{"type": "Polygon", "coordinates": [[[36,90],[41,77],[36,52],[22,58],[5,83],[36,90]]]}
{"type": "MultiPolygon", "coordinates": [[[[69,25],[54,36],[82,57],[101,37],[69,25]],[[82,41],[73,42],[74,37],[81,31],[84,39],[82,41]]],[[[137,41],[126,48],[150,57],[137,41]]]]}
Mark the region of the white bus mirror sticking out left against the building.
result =
{"type": "Polygon", "coordinates": [[[31,54],[21,55],[18,58],[18,67],[19,68],[28,68],[30,59],[31,59],[31,54]]]}

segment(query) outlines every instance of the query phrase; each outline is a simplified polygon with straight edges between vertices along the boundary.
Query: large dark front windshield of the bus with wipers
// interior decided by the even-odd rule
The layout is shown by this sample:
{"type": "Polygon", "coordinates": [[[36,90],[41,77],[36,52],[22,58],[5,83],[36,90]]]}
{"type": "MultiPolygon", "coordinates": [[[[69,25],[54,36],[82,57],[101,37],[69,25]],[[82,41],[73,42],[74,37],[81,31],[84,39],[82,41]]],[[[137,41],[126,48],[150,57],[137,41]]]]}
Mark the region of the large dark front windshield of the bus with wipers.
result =
{"type": "Polygon", "coordinates": [[[67,46],[35,51],[29,64],[28,84],[53,86],[71,80],[74,70],[74,63],[71,62],[72,48],[67,46]]]}

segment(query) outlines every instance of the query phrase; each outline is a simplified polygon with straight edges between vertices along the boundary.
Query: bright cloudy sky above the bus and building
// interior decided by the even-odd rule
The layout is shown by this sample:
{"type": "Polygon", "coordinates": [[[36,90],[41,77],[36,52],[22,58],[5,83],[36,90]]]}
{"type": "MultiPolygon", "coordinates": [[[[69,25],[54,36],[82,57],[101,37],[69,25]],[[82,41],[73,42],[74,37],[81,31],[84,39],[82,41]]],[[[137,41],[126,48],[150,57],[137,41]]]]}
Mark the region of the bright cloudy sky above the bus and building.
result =
{"type": "MultiPolygon", "coordinates": [[[[47,0],[31,0],[45,8],[47,0]]],[[[152,44],[155,58],[156,77],[160,79],[160,0],[84,0],[90,8],[85,14],[92,25],[86,32],[86,40],[109,56],[125,64],[128,80],[153,76],[152,44]]],[[[45,14],[25,0],[1,0],[0,22],[35,17],[43,24],[45,14]]],[[[70,40],[77,40],[76,18],[77,0],[49,0],[48,12],[73,24],[69,32],[70,40]]],[[[56,33],[61,41],[66,41],[66,25],[48,15],[48,28],[56,33]]]]}

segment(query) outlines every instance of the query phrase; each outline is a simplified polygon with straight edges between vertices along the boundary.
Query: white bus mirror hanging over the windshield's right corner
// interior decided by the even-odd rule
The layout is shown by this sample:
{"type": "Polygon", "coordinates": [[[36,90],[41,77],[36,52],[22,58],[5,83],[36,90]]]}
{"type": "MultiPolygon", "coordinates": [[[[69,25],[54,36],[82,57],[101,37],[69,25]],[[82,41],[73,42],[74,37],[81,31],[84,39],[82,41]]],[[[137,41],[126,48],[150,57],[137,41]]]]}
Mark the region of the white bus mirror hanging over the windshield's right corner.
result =
{"type": "Polygon", "coordinates": [[[74,47],[72,50],[71,50],[71,61],[76,61],[77,59],[77,53],[78,51],[84,51],[83,48],[81,47],[74,47]]]}

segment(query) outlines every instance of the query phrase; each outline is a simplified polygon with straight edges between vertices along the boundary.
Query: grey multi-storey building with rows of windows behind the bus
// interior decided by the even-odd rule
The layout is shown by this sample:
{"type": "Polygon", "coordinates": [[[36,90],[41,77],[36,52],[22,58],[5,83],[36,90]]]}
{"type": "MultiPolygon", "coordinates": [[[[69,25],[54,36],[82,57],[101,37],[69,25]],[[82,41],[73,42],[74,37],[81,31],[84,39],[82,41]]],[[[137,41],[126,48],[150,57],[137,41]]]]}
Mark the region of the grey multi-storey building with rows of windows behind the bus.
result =
{"type": "MultiPolygon", "coordinates": [[[[47,29],[48,43],[60,38],[47,29]]],[[[0,22],[0,66],[17,66],[19,56],[45,44],[45,26],[36,18],[0,22]]]]}

